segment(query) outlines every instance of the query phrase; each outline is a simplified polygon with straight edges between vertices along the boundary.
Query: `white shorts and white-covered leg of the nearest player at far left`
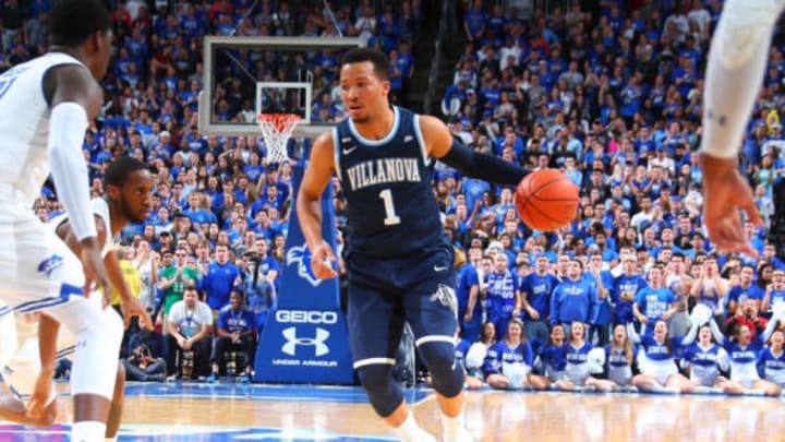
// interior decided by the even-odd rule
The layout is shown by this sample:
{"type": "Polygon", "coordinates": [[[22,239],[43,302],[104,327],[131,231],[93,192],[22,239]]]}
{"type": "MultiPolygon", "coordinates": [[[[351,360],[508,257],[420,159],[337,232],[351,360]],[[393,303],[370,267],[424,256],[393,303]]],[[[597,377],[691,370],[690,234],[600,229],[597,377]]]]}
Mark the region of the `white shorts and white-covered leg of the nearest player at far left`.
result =
{"type": "Polygon", "coordinates": [[[104,439],[122,320],[114,310],[102,310],[97,300],[82,296],[84,275],[78,259],[33,215],[14,223],[9,237],[13,243],[0,250],[0,296],[17,313],[46,312],[76,335],[71,439],[104,439]]]}

